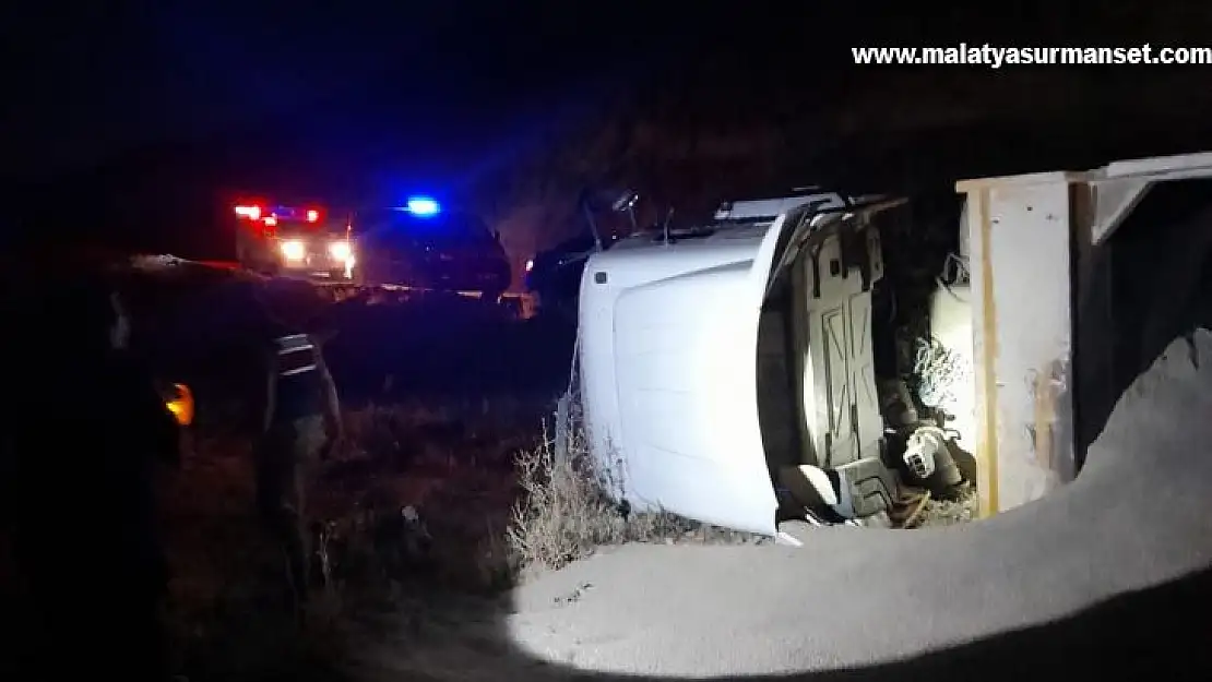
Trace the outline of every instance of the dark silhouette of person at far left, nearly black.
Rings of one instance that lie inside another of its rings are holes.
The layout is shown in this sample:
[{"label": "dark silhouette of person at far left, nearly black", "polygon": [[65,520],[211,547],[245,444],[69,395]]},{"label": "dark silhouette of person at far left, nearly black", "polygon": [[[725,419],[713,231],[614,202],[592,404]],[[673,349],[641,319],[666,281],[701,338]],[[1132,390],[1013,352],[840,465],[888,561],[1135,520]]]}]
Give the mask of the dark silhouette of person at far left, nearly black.
[{"label": "dark silhouette of person at far left, nearly black", "polygon": [[166,680],[153,474],[155,460],[179,462],[178,426],[128,350],[108,282],[73,277],[28,296],[6,349],[28,371],[12,374],[2,411],[29,597],[21,678]]}]

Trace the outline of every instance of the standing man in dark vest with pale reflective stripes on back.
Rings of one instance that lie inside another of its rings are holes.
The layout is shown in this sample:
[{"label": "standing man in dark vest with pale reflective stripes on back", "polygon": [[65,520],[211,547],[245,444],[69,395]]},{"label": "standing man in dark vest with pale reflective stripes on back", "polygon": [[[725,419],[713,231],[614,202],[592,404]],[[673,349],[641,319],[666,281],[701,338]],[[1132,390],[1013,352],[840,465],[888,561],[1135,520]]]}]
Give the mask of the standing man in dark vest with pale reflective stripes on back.
[{"label": "standing man in dark vest with pale reflective stripes on back", "polygon": [[341,405],[319,340],[274,315],[271,304],[264,309],[257,506],[285,555],[290,604],[302,620],[310,596],[307,487],[315,464],[343,439]]}]

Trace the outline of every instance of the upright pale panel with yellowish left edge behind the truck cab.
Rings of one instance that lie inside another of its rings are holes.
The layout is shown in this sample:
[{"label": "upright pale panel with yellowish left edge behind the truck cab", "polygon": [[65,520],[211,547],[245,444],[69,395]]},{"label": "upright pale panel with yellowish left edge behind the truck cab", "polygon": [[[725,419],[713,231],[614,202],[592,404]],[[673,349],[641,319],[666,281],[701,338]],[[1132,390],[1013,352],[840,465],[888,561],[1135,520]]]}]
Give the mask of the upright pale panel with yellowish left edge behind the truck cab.
[{"label": "upright pale panel with yellowish left edge behind the truck cab", "polygon": [[981,516],[1045,495],[1071,470],[1069,183],[968,195]]}]

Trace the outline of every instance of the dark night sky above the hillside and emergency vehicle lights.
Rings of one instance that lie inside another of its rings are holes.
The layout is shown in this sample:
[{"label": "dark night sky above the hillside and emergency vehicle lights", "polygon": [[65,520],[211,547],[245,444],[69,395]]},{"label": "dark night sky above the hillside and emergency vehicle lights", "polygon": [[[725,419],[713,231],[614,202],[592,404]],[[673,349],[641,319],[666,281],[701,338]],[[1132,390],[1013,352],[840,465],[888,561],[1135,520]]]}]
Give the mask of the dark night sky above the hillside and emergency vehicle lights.
[{"label": "dark night sky above the hillside and emergency vehicle lights", "polygon": [[[1212,45],[1208,2],[1094,13],[1065,2],[22,5],[0,11],[17,93],[0,173],[6,191],[38,189],[39,201],[82,193],[115,208],[159,188],[195,205],[250,187],[458,193],[621,102],[646,111],[657,138],[777,138],[782,157],[766,166],[847,179],[910,174],[907,159],[924,155],[947,174],[1212,148],[1212,67],[991,71],[850,57],[858,45],[961,40]],[[948,139],[962,142],[942,149]],[[943,168],[954,155],[961,170]],[[719,176],[685,164],[703,182]]]}]

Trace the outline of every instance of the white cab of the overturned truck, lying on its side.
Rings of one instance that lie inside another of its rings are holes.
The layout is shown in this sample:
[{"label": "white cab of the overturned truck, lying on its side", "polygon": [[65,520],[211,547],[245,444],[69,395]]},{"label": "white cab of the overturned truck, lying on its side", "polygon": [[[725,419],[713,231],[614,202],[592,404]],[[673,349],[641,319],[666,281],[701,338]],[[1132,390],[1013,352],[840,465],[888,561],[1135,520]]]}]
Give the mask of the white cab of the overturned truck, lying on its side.
[{"label": "white cab of the overturned truck, lying on its side", "polygon": [[[942,424],[884,417],[903,391],[877,386],[875,219],[902,204],[726,204],[711,224],[640,234],[589,262],[587,429],[633,506],[773,533],[891,511],[905,497],[897,459],[960,482]],[[890,428],[904,436],[896,453]]]}]

